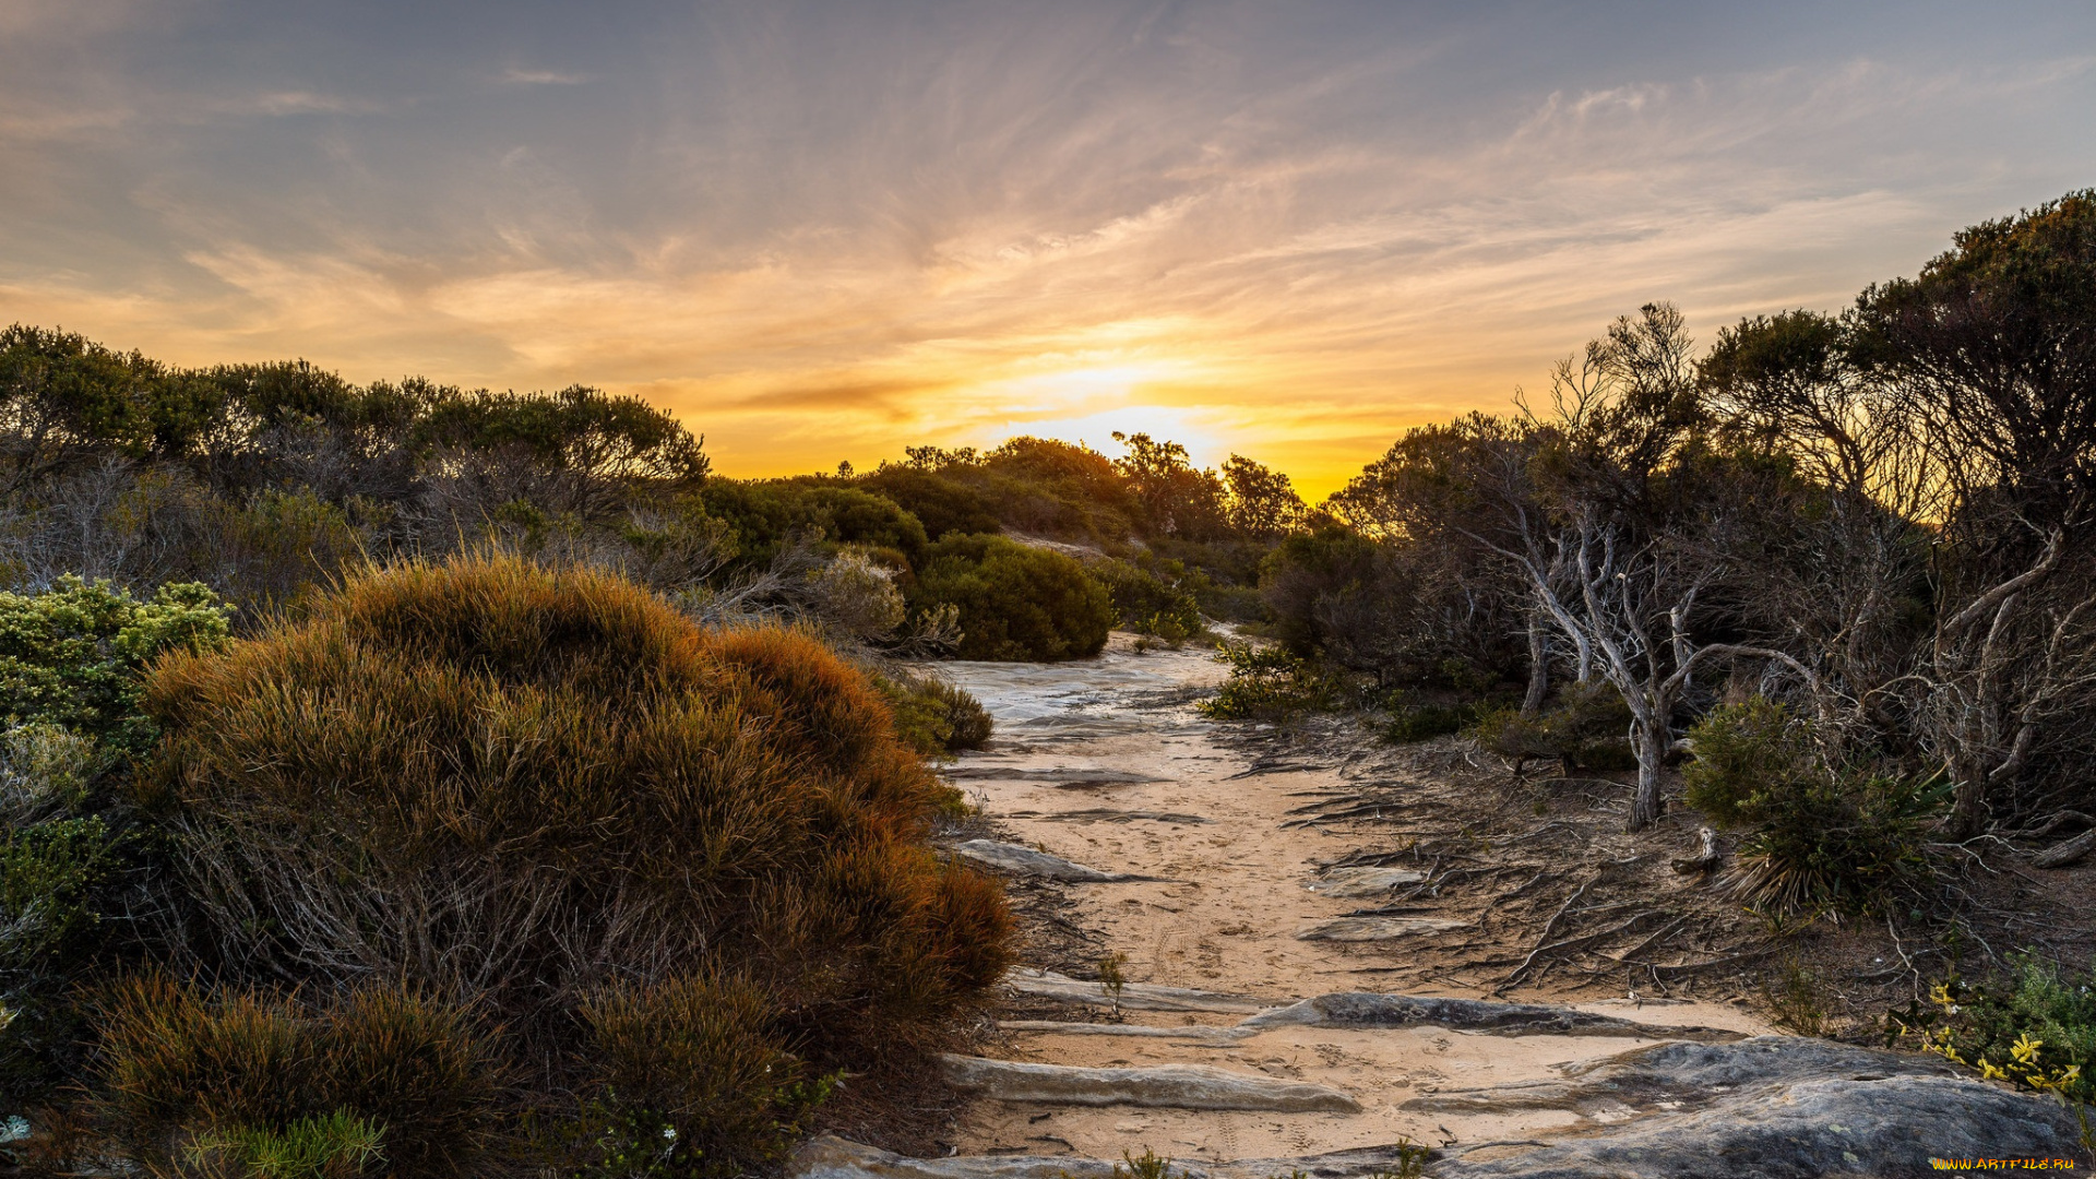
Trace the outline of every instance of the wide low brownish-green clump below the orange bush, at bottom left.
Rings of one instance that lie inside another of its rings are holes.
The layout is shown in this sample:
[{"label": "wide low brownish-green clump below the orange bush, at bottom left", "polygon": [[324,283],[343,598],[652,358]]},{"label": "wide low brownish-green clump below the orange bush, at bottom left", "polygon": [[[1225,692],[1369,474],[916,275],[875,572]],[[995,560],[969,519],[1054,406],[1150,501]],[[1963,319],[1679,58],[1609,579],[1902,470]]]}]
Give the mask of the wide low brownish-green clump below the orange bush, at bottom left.
[{"label": "wide low brownish-green clump below the orange bush, at bottom left", "polygon": [[107,1122],[153,1175],[354,1173],[342,1160],[377,1150],[388,1175],[449,1179],[486,1156],[505,1097],[493,1038],[413,990],[308,1009],[143,978],[99,1028]]}]

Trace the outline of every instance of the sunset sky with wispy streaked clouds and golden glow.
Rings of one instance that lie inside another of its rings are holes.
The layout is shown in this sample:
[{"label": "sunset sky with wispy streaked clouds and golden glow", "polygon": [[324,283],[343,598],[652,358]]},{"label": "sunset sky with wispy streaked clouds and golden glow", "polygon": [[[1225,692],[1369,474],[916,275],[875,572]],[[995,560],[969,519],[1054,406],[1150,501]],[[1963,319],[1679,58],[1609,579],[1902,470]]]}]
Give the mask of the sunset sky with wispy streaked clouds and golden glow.
[{"label": "sunset sky with wispy streaked clouds and golden glow", "polygon": [[1312,495],[2096,185],[2096,4],[0,0],[0,323]]}]

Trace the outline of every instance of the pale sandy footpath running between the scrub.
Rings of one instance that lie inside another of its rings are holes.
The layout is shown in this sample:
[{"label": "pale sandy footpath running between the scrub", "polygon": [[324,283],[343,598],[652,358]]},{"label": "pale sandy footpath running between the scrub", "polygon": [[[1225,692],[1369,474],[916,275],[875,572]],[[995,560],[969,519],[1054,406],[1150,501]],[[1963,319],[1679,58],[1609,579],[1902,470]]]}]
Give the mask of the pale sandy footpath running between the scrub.
[{"label": "pale sandy footpath running between the scrub", "polygon": [[[1364,837],[1285,827],[1289,812],[1333,793],[1356,793],[1341,757],[1262,764],[1222,741],[1188,701],[1220,680],[1199,650],[1134,655],[1115,636],[1094,661],[1065,665],[945,663],[998,720],[994,747],[952,768],[1017,841],[1147,883],[1069,885],[1073,919],[1109,950],[1128,955],[1132,982],[1251,994],[1272,1005],[1344,990],[1385,990],[1417,938],[1302,940],[1300,931],[1388,898],[1310,892],[1320,869]],[[1241,743],[1237,743],[1241,745]],[[1385,778],[1388,780],[1388,778]],[[1082,812],[1094,812],[1082,816]],[[1107,812],[1107,814],[1098,814]],[[1163,818],[1119,818],[1151,812]],[[1075,816],[1075,818],[1073,818]],[[1379,848],[1388,848],[1388,841]],[[1413,990],[1480,996],[1473,990]],[[1509,999],[1520,999],[1511,994]],[[1593,1011],[1647,1022],[1759,1034],[1750,1015],[1698,1003],[1601,1003]],[[1111,1013],[1071,1007],[1063,1020]],[[1132,1026],[1235,1024],[1228,1013],[1126,1011]],[[1564,1110],[1461,1114],[1406,1106],[1444,1093],[1557,1076],[1551,1066],[1606,1057],[1631,1036],[1492,1036],[1442,1028],[1272,1028],[1203,1043],[1159,1036],[1006,1032],[994,1055],[1067,1066],[1205,1064],[1241,1074],[1327,1085],[1358,1114],[1272,1114],[1079,1108],[977,1101],[960,1127],[962,1154],[1077,1154],[1119,1158],[1155,1150],[1182,1160],[1281,1158],[1360,1145],[1522,1139],[1578,1122]],[[1608,1120],[1601,1112],[1599,1120]]]}]

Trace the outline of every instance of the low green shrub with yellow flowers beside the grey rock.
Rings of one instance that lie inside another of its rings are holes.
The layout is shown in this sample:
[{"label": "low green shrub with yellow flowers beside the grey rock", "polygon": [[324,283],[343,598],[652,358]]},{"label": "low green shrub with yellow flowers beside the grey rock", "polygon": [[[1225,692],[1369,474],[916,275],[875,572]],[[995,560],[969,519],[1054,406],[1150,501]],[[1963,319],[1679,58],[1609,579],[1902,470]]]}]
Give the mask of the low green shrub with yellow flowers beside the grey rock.
[{"label": "low green shrub with yellow flowers beside the grey rock", "polygon": [[2096,969],[2062,978],[2037,955],[2010,955],[2004,978],[1939,982],[1926,1007],[1886,1015],[1886,1032],[1989,1078],[2096,1103]]}]

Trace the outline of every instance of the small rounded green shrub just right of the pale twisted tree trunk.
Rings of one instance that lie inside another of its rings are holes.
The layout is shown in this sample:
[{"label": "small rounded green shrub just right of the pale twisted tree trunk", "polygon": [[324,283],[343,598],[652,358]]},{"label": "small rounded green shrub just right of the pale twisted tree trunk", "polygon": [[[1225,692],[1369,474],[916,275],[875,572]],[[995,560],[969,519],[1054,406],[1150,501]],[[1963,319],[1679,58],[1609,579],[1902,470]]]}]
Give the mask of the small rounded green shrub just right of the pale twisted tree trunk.
[{"label": "small rounded green shrub just right of the pale twisted tree trunk", "polygon": [[1765,822],[1815,772],[1809,726],[1761,696],[1710,709],[1689,743],[1696,757],[1681,768],[1687,803],[1719,827]]}]

